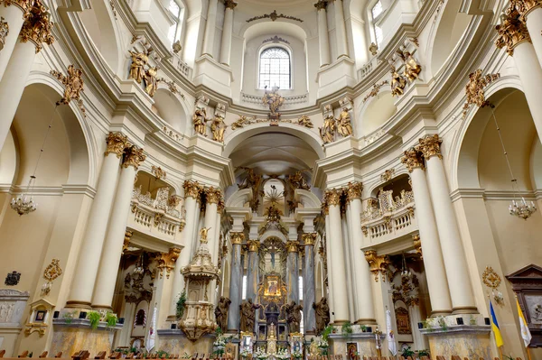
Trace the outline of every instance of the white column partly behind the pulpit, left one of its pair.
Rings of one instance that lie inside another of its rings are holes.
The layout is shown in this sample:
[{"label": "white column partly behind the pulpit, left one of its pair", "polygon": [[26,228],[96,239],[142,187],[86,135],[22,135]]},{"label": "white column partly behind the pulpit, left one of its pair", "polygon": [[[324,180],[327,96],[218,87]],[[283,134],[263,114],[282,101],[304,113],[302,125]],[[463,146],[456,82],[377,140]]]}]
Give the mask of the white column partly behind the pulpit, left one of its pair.
[{"label": "white column partly behind the pulpit, left one of its pair", "polygon": [[175,263],[175,270],[173,275],[172,286],[172,300],[170,302],[169,317],[168,320],[175,319],[175,313],[177,310],[177,300],[179,295],[184,289],[184,277],[181,274],[182,267],[190,263],[192,258],[192,237],[194,228],[196,227],[196,213],[200,212],[200,198],[201,187],[197,182],[184,181],[184,209],[186,210],[186,226],[182,230],[182,247],[181,254]]}]

